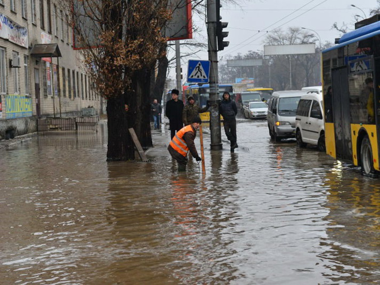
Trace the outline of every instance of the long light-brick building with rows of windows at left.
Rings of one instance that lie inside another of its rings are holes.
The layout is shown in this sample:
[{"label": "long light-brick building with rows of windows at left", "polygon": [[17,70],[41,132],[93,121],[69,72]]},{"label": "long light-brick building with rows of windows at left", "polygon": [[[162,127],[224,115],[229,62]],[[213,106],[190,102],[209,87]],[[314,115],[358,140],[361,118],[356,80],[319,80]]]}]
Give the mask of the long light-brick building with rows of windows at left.
[{"label": "long light-brick building with rows of windows at left", "polygon": [[[73,29],[59,2],[0,0],[0,139],[37,131],[37,118],[100,114],[101,98],[73,49]],[[56,44],[61,57],[35,56]]]}]

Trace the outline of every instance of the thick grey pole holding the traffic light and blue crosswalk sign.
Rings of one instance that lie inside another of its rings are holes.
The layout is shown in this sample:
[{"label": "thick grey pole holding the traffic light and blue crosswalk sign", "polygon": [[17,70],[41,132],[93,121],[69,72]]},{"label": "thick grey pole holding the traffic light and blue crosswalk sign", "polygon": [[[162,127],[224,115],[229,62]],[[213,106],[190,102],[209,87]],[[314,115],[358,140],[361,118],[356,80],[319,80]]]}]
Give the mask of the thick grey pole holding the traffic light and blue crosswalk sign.
[{"label": "thick grey pole holding the traffic light and blue crosswalk sign", "polygon": [[216,37],[216,0],[207,0],[207,35],[209,44],[209,61],[210,61],[210,131],[211,131],[211,150],[222,149],[222,135],[220,131],[220,114],[219,114],[219,84],[218,84],[218,47]]}]

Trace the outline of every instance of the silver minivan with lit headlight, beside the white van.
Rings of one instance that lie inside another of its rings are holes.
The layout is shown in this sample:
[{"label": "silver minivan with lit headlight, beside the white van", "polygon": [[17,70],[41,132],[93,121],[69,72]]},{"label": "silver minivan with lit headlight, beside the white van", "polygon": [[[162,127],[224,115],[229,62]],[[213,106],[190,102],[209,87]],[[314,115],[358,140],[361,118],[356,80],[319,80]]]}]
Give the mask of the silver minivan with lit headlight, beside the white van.
[{"label": "silver minivan with lit headlight, beside the white van", "polygon": [[268,130],[271,139],[294,138],[298,102],[305,92],[287,90],[273,92],[268,102]]}]

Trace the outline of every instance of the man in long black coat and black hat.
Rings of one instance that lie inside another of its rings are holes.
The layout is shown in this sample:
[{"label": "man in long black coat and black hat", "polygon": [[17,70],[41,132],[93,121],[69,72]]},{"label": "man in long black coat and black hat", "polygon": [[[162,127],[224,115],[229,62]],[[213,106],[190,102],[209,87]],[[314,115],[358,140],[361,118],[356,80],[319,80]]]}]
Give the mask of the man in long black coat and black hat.
[{"label": "man in long black coat and black hat", "polygon": [[177,89],[171,90],[171,100],[166,102],[165,116],[169,119],[170,137],[176,135],[176,131],[182,129],[182,111],[184,109],[184,102],[178,99],[179,91]]}]

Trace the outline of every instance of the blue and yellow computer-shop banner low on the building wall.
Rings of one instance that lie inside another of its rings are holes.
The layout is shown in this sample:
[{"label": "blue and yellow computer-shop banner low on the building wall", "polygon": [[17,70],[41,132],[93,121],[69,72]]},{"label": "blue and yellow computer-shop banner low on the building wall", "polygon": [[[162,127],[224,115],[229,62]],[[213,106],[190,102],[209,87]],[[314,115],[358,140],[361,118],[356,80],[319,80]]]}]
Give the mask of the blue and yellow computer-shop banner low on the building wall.
[{"label": "blue and yellow computer-shop banner low on the building wall", "polygon": [[5,95],[6,119],[32,116],[32,97],[27,95]]}]

